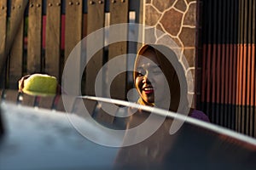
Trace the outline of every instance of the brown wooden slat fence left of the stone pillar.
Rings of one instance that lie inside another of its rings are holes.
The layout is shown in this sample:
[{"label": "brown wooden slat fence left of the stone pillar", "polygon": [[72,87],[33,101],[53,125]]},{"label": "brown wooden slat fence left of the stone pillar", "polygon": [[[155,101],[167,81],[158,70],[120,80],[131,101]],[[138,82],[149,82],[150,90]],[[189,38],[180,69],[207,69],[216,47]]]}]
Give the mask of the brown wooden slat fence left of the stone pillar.
[{"label": "brown wooden slat fence left of the stone pillar", "polygon": [[[35,72],[55,76],[61,82],[65,62],[83,37],[104,26],[139,23],[142,3],[142,0],[0,0],[0,69],[4,72],[1,87],[15,89],[20,77]],[[128,36],[128,32],[124,34]],[[104,49],[85,68],[81,82],[86,87],[82,88],[84,94],[94,94],[93,80],[105,62],[128,50],[135,51],[137,46],[119,42]],[[126,61],[121,65],[126,67]],[[116,78],[115,98],[125,99],[127,84],[126,74]]]}]

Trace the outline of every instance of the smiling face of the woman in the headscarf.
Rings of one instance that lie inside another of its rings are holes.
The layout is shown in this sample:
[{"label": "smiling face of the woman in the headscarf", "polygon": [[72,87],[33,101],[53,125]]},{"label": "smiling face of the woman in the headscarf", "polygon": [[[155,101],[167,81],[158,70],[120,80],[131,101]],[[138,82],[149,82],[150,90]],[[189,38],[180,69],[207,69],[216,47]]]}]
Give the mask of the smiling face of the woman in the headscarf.
[{"label": "smiling face of the woman in the headscarf", "polygon": [[[144,56],[144,57],[143,57]],[[137,59],[135,85],[141,98],[148,104],[157,103],[166,95],[166,77],[160,70],[153,50],[148,49]]]}]

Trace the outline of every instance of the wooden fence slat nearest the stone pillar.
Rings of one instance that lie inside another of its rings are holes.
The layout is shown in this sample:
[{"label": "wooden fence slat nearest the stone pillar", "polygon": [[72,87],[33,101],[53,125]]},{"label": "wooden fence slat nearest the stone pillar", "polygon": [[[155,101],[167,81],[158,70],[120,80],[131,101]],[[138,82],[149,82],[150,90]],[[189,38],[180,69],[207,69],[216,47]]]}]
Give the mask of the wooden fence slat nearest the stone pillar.
[{"label": "wooden fence slat nearest the stone pillar", "polygon": [[[110,3],[110,25],[128,23],[129,20],[129,0],[125,1],[115,1],[115,3]],[[122,14],[120,14],[122,11]],[[122,30],[109,30],[109,41],[111,37],[119,35],[119,37],[128,36],[128,27],[123,28]],[[113,59],[116,56],[127,53],[127,42],[116,42],[109,45],[108,60]],[[120,68],[126,68],[126,60],[124,59],[120,63],[116,63]],[[111,95],[114,99],[126,99],[126,73],[119,74],[115,77],[115,80],[112,82]]]}]

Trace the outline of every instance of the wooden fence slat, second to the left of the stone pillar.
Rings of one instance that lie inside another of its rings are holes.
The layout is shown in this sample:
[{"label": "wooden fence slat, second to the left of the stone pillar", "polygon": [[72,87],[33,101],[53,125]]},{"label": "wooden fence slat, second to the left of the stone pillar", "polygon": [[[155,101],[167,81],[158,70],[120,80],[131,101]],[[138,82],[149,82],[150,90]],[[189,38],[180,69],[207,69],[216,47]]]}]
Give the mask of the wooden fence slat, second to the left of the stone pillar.
[{"label": "wooden fence slat, second to the left of the stone pillar", "polygon": [[[93,33],[104,27],[105,14],[104,14],[104,2],[91,3],[88,1],[88,14],[87,14],[87,32]],[[103,30],[102,30],[103,31]],[[101,32],[103,35],[103,32]],[[100,47],[104,46],[104,37],[98,37],[96,40]],[[87,42],[90,43],[90,42]],[[90,50],[90,49],[89,49]],[[95,81],[98,71],[103,65],[103,48],[98,50],[96,54],[92,56],[88,64],[86,65],[86,81],[85,81],[85,94],[95,95]],[[102,79],[102,77],[101,77]],[[102,94],[99,92],[99,94]]]}]

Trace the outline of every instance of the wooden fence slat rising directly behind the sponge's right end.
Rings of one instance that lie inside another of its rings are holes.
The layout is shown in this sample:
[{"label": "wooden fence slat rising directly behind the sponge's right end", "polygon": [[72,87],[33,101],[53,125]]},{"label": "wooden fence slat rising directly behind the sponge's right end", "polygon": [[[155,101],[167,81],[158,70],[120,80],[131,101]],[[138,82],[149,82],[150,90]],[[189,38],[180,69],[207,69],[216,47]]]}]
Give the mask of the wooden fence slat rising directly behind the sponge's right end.
[{"label": "wooden fence slat rising directly behind the sponge's right end", "polygon": [[60,81],[61,0],[47,1],[44,71]]}]

